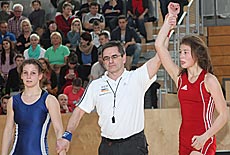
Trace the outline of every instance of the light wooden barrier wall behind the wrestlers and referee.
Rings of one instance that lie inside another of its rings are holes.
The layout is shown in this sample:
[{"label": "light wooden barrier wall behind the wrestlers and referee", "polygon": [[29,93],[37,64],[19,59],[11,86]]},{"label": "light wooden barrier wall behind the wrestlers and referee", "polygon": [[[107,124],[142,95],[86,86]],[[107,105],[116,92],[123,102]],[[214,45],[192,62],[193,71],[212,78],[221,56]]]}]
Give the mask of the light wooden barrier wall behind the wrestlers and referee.
[{"label": "light wooden barrier wall behind the wrestlers and referee", "polygon": [[[69,116],[70,114],[62,115],[64,126],[66,126]],[[100,129],[97,121],[96,113],[86,114],[82,118],[79,127],[73,133],[68,155],[97,155],[100,143]],[[180,109],[178,108],[145,110],[145,133],[149,143],[149,155],[178,155],[180,122]],[[0,116],[0,124],[0,138],[2,139],[5,116]],[[218,150],[230,150],[230,120],[216,137]],[[48,135],[48,143],[50,154],[56,154],[56,138],[52,127]]]}]

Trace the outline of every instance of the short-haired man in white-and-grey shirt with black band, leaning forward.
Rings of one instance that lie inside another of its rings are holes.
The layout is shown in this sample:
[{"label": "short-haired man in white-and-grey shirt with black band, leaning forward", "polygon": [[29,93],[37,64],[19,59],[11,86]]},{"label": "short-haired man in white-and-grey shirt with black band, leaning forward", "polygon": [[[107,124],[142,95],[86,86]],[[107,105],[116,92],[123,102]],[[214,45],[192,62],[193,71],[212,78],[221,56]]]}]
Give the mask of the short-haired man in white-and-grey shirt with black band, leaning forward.
[{"label": "short-haired man in white-and-grey shirt with black band, leaning forward", "polygon": [[93,22],[98,20],[100,22],[101,29],[105,29],[105,17],[98,13],[99,4],[97,2],[90,3],[89,13],[85,14],[82,18],[82,25],[86,31],[93,31]]}]

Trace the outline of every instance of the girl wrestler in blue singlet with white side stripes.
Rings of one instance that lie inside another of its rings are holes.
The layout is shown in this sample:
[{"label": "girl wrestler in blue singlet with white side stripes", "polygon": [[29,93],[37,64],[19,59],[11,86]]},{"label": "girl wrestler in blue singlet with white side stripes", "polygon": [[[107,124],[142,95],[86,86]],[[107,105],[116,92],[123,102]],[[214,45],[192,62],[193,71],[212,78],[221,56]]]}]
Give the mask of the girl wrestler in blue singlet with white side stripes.
[{"label": "girl wrestler in blue singlet with white side stripes", "polygon": [[[52,120],[56,138],[63,133],[57,99],[42,90],[42,66],[38,60],[25,60],[20,68],[24,91],[11,97],[7,105],[6,126],[2,139],[2,155],[48,155],[47,133]],[[61,152],[65,155],[65,152]]]}]

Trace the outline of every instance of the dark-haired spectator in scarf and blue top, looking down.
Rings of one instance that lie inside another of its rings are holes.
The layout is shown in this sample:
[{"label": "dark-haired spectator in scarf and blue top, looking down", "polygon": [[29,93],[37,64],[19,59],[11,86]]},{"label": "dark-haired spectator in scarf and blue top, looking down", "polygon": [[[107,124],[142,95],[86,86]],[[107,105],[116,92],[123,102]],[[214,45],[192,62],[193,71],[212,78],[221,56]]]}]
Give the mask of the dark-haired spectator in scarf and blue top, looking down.
[{"label": "dark-haired spectator in scarf and blue top, looking down", "polygon": [[84,71],[81,72],[81,78],[84,86],[87,85],[89,81],[88,76],[92,65],[98,60],[97,52],[97,47],[93,45],[90,33],[83,32],[81,35],[80,45],[76,49],[76,53],[78,56],[78,62],[82,65]]}]

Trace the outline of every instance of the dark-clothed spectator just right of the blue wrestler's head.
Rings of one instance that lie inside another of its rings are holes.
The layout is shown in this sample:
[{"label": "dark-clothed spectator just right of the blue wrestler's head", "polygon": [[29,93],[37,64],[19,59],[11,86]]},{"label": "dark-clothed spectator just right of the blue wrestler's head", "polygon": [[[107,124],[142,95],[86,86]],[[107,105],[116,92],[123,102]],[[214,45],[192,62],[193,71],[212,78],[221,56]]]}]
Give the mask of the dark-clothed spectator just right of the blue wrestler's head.
[{"label": "dark-clothed spectator just right of the blue wrestler's head", "polygon": [[39,62],[42,64],[43,68],[41,88],[47,90],[50,94],[56,96],[58,92],[57,75],[51,68],[47,59],[39,58]]}]

